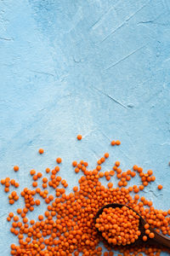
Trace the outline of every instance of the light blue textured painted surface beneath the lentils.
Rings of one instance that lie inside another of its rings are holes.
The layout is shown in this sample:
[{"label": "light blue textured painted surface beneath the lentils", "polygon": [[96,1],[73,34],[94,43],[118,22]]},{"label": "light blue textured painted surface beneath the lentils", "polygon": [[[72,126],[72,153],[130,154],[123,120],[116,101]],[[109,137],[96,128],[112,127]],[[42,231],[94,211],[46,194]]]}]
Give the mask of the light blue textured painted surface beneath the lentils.
[{"label": "light blue textured painted surface beneath the lentils", "polygon": [[[71,161],[94,166],[109,151],[105,168],[153,169],[147,198],[170,208],[169,38],[168,0],[1,1],[1,177],[19,179],[20,191],[31,168],[44,172],[61,156],[71,189]],[[115,138],[121,148],[111,148]],[[0,255],[9,255],[3,188],[0,198]]]}]

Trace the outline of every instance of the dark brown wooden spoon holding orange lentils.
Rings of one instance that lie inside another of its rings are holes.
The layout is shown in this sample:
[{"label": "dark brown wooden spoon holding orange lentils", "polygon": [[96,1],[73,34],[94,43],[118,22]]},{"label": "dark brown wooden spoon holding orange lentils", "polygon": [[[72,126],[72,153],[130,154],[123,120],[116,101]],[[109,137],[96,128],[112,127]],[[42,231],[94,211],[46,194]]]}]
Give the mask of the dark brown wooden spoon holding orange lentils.
[{"label": "dark brown wooden spoon holding orange lentils", "polygon": [[[105,208],[109,208],[109,207],[122,208],[122,207],[128,207],[128,206],[127,205],[122,205],[122,204],[108,204],[108,205],[105,205],[104,207],[101,207],[99,209],[99,212],[97,212],[97,214],[94,218],[94,223],[95,224],[96,224],[96,219],[99,218],[99,215],[103,212],[103,210]],[[133,210],[133,208],[131,208],[131,207],[128,207],[128,208]],[[136,212],[136,211],[133,210],[133,212]],[[136,212],[136,213],[139,215],[138,212]],[[156,230],[153,230],[151,228],[150,228],[150,231],[155,234],[155,237],[154,238],[148,237],[147,241],[143,241],[142,237],[145,236],[144,224],[146,224],[146,222],[145,222],[144,218],[142,218],[140,215],[139,215],[139,217],[140,217],[139,218],[139,230],[141,232],[141,235],[139,236],[139,238],[135,242],[133,242],[133,244],[131,244],[131,246],[139,247],[139,246],[144,246],[144,244],[145,244],[147,246],[153,246],[153,247],[167,247],[167,248],[170,248],[170,238],[167,237],[167,236],[163,236],[163,235],[159,234],[158,232],[156,232]],[[96,229],[96,230],[98,231],[99,235],[102,236],[102,232],[99,231],[98,229]],[[104,241],[106,241],[104,237],[103,237],[103,239],[104,239]],[[106,242],[108,243],[108,241],[106,241]]]}]

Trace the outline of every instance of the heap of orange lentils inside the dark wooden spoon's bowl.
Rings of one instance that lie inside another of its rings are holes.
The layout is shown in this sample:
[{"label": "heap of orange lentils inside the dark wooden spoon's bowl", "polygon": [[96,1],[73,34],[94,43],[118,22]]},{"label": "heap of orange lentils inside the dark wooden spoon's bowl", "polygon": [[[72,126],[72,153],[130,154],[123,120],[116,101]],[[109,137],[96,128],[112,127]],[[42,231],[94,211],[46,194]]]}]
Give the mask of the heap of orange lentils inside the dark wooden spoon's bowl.
[{"label": "heap of orange lentils inside the dark wooden spoon's bowl", "polygon": [[95,227],[113,245],[128,245],[141,235],[139,215],[128,207],[104,208],[96,219]]}]

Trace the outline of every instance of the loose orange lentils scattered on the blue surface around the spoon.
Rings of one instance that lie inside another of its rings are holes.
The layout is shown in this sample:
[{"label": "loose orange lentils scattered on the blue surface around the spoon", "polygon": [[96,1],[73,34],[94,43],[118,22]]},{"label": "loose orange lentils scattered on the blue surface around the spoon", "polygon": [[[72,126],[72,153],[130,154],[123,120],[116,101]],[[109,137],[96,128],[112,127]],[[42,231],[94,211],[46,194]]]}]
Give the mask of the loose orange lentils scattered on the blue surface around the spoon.
[{"label": "loose orange lentils scattered on the blue surface around the spoon", "polygon": [[[77,136],[77,140],[81,139],[82,136]],[[111,142],[111,146],[119,146],[120,144],[120,141]],[[44,150],[40,148],[39,154],[43,153]],[[72,167],[75,173],[82,172],[82,177],[78,180],[79,185],[73,187],[72,192],[69,194],[66,194],[68,183],[59,176],[61,158],[56,159],[57,165],[54,166],[53,170],[46,169],[47,177],[43,177],[42,172],[31,170],[31,187],[23,189],[20,193],[20,198],[19,193],[17,194],[16,191],[11,191],[11,194],[8,195],[8,201],[11,205],[14,204],[14,201],[22,200],[22,198],[25,203],[24,207],[18,208],[16,212],[8,213],[7,220],[11,222],[10,231],[18,239],[18,242],[11,244],[11,255],[112,256],[114,255],[113,251],[117,251],[116,255],[118,256],[141,256],[143,253],[149,256],[159,256],[162,251],[167,251],[166,248],[147,247],[146,243],[142,247],[119,247],[121,244],[120,238],[116,236],[111,237],[111,239],[116,239],[113,242],[115,246],[111,247],[105,241],[106,251],[99,246],[99,242],[103,241],[103,238],[99,236],[96,230],[94,217],[101,207],[111,203],[127,205],[145,219],[147,224],[144,226],[144,242],[147,241],[148,237],[151,238],[152,236],[150,235],[150,228],[163,235],[170,236],[170,210],[167,212],[157,210],[152,206],[152,201],[148,201],[144,196],[139,195],[139,191],[155,181],[156,177],[153,176],[153,172],[151,170],[144,172],[142,167],[136,165],[133,166],[133,170],[122,172],[121,163],[118,160],[114,166],[111,166],[111,171],[104,172],[102,171],[102,165],[108,158],[109,154],[105,153],[97,161],[94,170],[88,169],[88,162],[83,160],[77,162],[74,160]],[[19,171],[19,167],[14,167],[14,171]],[[128,186],[128,182],[136,175],[140,177],[140,185]],[[113,177],[116,177],[114,179],[114,186],[111,181]],[[107,186],[102,184],[102,178],[106,179]],[[42,181],[41,186],[38,186],[38,180]],[[4,191],[6,193],[9,192],[10,186],[19,187],[19,183],[16,183],[14,179],[9,177],[2,179],[1,183],[5,187]],[[49,195],[49,189],[50,191],[54,190],[54,193],[51,193],[54,195]],[[158,189],[162,189],[162,186],[159,185]],[[38,197],[38,199],[35,197]],[[38,218],[30,219],[29,212],[35,211],[36,207],[41,207],[42,204],[47,204],[46,211],[42,212]],[[113,209],[108,211],[113,215],[116,213]],[[127,207],[124,208],[124,211],[127,211]],[[104,212],[104,215],[106,212]],[[124,225],[127,222],[128,226],[126,214],[124,217],[121,211],[118,214],[122,218],[122,224]],[[139,220],[133,215],[133,211],[131,215],[134,218],[134,231],[131,232],[132,236],[127,237],[128,232],[127,234],[123,232],[123,234],[119,235],[119,237],[122,236],[122,245],[135,241],[139,236]],[[113,227],[110,230],[109,226],[109,232],[107,233],[108,222],[111,218],[107,218],[107,223],[105,224],[105,237],[108,241],[110,236],[114,235],[117,227],[121,225],[121,223],[117,223],[113,218]],[[99,227],[102,228],[102,225],[99,225],[97,228]],[[125,239],[125,236],[127,239]],[[102,253],[103,250],[105,251],[104,253]]]}]

